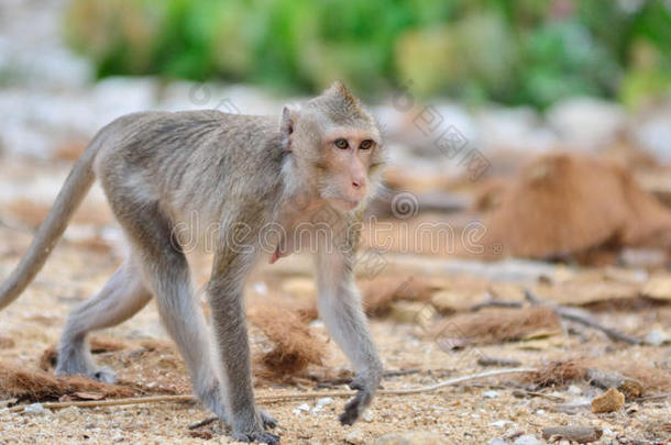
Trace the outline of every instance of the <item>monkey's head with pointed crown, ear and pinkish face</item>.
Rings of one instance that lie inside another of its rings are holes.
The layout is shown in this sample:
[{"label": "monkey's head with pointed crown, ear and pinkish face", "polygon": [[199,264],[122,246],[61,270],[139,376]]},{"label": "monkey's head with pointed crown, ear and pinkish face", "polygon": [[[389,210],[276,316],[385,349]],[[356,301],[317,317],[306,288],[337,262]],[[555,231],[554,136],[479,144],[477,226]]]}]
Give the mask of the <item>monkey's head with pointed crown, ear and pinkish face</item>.
[{"label": "monkey's head with pointed crown, ear and pinkish face", "polygon": [[382,136],[373,116],[340,81],[301,108],[285,107],[282,143],[318,198],[350,211],[381,180]]}]

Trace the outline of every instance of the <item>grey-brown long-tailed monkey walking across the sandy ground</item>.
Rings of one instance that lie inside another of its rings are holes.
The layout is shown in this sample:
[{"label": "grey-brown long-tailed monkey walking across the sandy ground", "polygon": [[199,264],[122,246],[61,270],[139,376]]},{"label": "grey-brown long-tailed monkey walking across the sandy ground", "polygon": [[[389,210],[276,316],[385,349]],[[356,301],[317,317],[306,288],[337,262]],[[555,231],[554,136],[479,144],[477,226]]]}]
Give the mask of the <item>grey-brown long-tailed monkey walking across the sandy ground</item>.
[{"label": "grey-brown long-tailed monkey walking across the sandy ground", "polygon": [[[306,222],[343,227],[321,237],[311,254],[320,316],[355,370],[350,387],[356,392],[339,416],[352,424],[373,400],[383,370],[354,266],[363,211],[385,164],[375,119],[340,81],[302,104],[283,107],[279,116],[217,110],[123,115],[102,127],[75,164],[0,287],[0,310],[41,270],[98,179],[130,253],[100,292],[67,316],[56,372],[114,382],[111,369],[94,363],[87,334],[130,319],[155,298],[202,404],[235,440],[276,444],[279,436],[268,431],[276,421],[254,401],[245,279],[260,260],[272,264],[304,249],[290,233]],[[175,230],[189,224],[190,212],[217,224],[206,286],[210,329]]]}]

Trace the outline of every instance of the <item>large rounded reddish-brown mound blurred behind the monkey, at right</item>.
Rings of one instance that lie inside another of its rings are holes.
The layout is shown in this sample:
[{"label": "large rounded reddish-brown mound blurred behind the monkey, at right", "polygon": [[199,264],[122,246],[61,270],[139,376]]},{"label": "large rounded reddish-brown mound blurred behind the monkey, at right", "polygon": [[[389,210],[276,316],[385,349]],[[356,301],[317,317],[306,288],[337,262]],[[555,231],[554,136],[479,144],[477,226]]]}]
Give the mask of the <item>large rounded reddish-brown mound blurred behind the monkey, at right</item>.
[{"label": "large rounded reddish-brown mound blurred behind the monkey, at right", "polygon": [[575,154],[527,165],[485,225],[485,255],[497,258],[548,258],[608,243],[671,247],[671,211],[623,167]]}]

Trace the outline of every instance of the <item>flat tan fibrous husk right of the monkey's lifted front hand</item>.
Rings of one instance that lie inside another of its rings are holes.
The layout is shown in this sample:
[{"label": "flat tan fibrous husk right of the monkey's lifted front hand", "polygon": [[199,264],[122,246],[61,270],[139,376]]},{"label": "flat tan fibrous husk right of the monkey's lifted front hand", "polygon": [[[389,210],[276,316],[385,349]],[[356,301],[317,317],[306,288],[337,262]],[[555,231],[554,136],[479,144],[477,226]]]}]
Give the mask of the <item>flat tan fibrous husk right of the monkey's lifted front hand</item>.
[{"label": "flat tan fibrous husk right of the monkey's lifted front hand", "polygon": [[455,344],[503,343],[560,332],[559,316],[549,308],[483,309],[436,323],[429,335]]}]

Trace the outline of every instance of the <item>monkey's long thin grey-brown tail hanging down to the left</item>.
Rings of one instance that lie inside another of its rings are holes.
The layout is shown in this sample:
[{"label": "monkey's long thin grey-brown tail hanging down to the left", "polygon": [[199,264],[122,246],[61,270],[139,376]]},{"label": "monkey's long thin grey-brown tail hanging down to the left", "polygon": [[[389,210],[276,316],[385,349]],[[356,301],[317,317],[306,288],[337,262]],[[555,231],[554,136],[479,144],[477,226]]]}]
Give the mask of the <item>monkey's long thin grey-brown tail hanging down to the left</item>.
[{"label": "monkey's long thin grey-brown tail hanging down to the left", "polygon": [[46,258],[65,232],[67,224],[79,207],[96,175],[94,160],[102,144],[103,131],[99,132],[88,145],[81,157],[75,164],[46,219],[40,225],[33,243],[19,266],[0,286],[0,310],[14,301],[42,269]]}]

